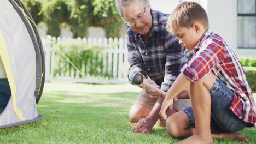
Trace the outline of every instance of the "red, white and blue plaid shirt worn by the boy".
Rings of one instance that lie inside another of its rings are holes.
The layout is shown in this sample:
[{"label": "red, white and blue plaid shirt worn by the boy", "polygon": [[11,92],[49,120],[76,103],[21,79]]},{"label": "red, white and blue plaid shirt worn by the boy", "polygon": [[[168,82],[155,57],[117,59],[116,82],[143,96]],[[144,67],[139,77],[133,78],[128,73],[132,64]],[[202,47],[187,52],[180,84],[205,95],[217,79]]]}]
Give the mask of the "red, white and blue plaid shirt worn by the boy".
[{"label": "red, white and blue plaid shirt worn by the boy", "polygon": [[196,83],[211,70],[234,93],[229,109],[247,127],[256,127],[256,107],[245,71],[235,53],[217,34],[208,29],[194,48],[195,55],[181,69],[191,82]]}]

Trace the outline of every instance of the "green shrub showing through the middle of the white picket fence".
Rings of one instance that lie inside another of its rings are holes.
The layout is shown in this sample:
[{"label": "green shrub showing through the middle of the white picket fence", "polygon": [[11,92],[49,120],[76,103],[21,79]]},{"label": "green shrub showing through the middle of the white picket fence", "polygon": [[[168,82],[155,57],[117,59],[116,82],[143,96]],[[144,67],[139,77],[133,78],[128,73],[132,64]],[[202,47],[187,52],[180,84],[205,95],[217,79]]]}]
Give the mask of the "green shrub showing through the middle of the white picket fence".
[{"label": "green shrub showing through the middle of the white picket fence", "polygon": [[[56,44],[55,55],[59,55],[59,58],[55,59],[55,62],[59,63],[59,67],[54,70],[54,76],[56,74],[71,75],[71,69],[73,65],[63,58],[62,53],[82,72],[84,67],[84,74],[90,76],[103,76],[103,45],[84,45],[83,43],[60,43]],[[60,51],[62,53],[60,53]],[[76,70],[75,70],[76,71]],[[79,75],[82,78],[82,75]]]}]

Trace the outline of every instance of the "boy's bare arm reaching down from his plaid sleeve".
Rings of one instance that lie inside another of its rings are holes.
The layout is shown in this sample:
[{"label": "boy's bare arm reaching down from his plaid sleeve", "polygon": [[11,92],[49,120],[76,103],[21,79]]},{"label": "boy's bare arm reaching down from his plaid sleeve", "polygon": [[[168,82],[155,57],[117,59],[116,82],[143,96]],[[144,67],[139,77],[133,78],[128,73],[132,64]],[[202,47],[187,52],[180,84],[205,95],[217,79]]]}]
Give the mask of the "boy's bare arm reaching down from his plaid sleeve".
[{"label": "boy's bare arm reaching down from his plaid sleeve", "polygon": [[169,106],[170,106],[170,109],[172,110],[172,104],[173,104],[174,97],[176,97],[176,95],[181,93],[186,87],[189,87],[190,83],[191,83],[191,81],[189,79],[187,79],[187,77],[185,77],[182,73],[179,74],[179,76],[174,81],[171,88],[166,93],[164,102],[162,103],[161,110],[160,110],[159,114],[163,119],[167,118],[166,110]]}]

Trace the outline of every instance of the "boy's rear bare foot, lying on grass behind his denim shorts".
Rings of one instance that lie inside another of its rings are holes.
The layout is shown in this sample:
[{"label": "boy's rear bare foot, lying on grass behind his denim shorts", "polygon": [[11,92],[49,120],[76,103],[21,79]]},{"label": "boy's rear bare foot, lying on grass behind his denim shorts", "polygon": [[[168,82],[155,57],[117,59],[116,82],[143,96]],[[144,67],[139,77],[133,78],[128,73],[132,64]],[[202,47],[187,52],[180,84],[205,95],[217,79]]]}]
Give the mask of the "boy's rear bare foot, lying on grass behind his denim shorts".
[{"label": "boy's rear bare foot, lying on grass behind his denim shorts", "polygon": [[216,139],[232,139],[249,142],[245,136],[239,133],[222,133],[222,134],[212,134],[212,137]]}]

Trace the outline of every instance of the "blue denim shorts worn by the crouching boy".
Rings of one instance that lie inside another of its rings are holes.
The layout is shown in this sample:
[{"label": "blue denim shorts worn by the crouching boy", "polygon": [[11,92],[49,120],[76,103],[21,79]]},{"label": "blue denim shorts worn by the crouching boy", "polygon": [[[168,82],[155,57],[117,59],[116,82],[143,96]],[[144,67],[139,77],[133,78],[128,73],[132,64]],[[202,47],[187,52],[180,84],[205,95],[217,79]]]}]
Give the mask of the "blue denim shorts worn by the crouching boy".
[{"label": "blue denim shorts worn by the crouching boy", "polygon": [[[231,110],[230,103],[234,96],[225,83],[218,77],[210,89],[211,104],[211,133],[236,133],[243,130],[247,123],[239,119]],[[192,107],[182,110],[189,119],[189,127],[195,128],[195,118]]]}]

